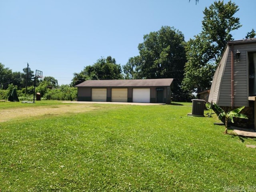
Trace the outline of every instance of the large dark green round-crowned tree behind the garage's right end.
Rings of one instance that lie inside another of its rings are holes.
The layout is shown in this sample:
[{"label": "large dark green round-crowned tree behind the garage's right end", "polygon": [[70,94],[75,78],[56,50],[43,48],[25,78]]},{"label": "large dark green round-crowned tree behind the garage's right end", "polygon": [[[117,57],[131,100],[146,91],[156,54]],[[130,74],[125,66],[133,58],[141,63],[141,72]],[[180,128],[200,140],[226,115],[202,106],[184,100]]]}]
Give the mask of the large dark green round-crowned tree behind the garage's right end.
[{"label": "large dark green round-crowned tree behind the garage's right end", "polygon": [[170,26],[144,35],[138,45],[140,52],[140,78],[174,78],[173,96],[182,94],[181,81],[186,63],[184,35]]}]

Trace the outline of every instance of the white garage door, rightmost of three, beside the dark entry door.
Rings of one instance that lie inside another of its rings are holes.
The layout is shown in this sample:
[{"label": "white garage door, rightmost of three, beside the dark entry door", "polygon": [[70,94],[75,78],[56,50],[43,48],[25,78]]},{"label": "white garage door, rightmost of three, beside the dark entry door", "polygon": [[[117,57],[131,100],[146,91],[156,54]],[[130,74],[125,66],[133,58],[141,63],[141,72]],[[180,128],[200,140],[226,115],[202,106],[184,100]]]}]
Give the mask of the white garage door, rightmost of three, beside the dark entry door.
[{"label": "white garage door, rightmost of three, beside the dark entry door", "polygon": [[150,88],[132,89],[132,102],[150,103]]}]

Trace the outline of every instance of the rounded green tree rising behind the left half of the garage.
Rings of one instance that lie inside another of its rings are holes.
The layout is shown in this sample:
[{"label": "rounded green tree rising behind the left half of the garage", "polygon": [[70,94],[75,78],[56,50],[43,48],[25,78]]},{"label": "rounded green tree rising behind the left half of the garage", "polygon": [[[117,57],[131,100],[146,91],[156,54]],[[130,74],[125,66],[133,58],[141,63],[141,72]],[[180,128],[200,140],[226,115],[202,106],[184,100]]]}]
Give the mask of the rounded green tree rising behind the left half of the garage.
[{"label": "rounded green tree rising behind the left half of the garage", "polygon": [[116,64],[116,60],[111,56],[101,57],[92,66],[84,67],[80,73],[74,73],[71,85],[74,86],[84,80],[110,80],[122,79],[122,68]]}]

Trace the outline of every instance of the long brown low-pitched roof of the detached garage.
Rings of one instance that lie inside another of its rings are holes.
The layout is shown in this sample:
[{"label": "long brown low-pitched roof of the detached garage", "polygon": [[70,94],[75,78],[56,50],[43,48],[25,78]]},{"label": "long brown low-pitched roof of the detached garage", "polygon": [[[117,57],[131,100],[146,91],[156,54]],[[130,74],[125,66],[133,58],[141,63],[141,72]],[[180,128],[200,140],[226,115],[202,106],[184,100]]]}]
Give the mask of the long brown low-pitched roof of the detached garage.
[{"label": "long brown low-pitched roof of the detached garage", "polygon": [[149,87],[170,86],[172,78],[164,79],[129,79],[129,80],[87,80],[75,87]]}]

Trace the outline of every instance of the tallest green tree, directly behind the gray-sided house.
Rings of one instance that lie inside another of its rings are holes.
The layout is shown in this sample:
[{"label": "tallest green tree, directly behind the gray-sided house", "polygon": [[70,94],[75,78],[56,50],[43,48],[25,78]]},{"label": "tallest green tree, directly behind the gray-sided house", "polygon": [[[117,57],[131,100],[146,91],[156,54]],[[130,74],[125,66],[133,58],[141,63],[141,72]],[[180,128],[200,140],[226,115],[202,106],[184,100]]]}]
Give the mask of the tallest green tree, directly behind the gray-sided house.
[{"label": "tallest green tree, directly behind the gray-sided house", "polygon": [[239,10],[229,1],[214,2],[204,10],[202,32],[190,39],[186,46],[186,63],[182,88],[188,92],[201,92],[211,86],[216,65],[228,41],[234,40],[230,32],[240,28]]}]

